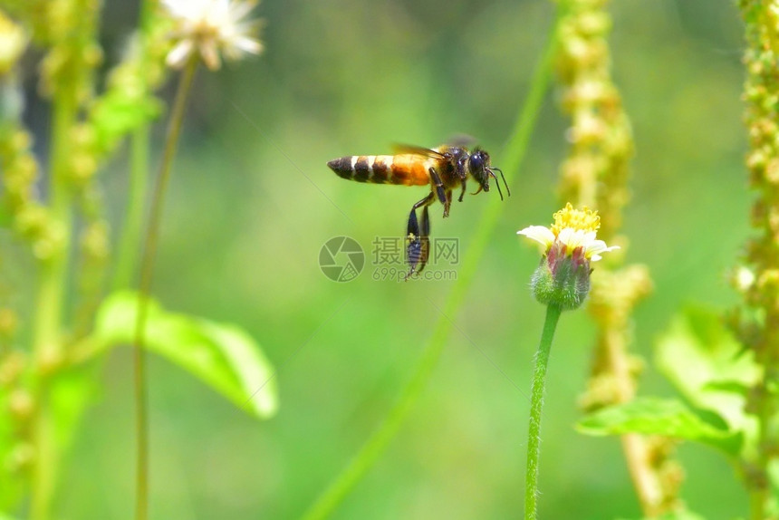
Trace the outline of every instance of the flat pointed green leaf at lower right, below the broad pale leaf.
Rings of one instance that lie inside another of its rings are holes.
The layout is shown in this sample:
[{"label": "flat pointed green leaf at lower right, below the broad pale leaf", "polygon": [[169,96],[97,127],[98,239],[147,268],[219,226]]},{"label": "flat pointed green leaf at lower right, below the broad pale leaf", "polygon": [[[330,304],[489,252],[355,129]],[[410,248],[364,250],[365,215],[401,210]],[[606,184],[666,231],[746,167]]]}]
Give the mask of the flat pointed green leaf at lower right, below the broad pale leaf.
[{"label": "flat pointed green leaf at lower right, below the broad pale leaf", "polygon": [[576,425],[587,435],[640,433],[669,438],[684,438],[736,455],[741,449],[741,434],[718,429],[698,417],[678,400],[640,398],[600,409]]}]

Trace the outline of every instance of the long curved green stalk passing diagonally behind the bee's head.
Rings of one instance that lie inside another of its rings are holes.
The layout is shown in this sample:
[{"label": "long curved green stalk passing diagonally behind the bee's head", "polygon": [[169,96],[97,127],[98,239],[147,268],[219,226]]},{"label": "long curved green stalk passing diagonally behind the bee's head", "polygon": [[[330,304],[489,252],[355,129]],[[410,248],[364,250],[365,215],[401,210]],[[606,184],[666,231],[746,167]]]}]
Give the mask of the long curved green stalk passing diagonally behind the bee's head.
[{"label": "long curved green stalk passing diagonally behind the bee's head", "polygon": [[[559,18],[557,19],[559,21]],[[515,129],[505,149],[504,166],[505,177],[508,182],[514,178],[517,170],[522,166],[527,152],[530,137],[533,134],[535,121],[543,106],[543,99],[550,82],[553,68],[553,57],[557,45],[558,23],[555,21],[553,30],[549,34],[548,41],[543,50],[543,56],[536,65],[530,91],[524,101],[524,106],[517,119]],[[451,316],[457,314],[465,295],[478,269],[479,260],[486,251],[489,237],[497,225],[498,217],[502,211],[500,201],[491,197],[490,202],[482,214],[476,234],[470,240],[463,265],[457,275],[457,282],[452,292],[447,297],[444,310],[438,317],[435,329],[430,336],[428,344],[418,362],[417,369],[409,383],[400,393],[398,401],[382,422],[380,427],[373,432],[360,451],[352,458],[341,474],[335,478],[311,508],[303,515],[305,520],[318,520],[326,518],[338,507],[343,499],[349,495],[351,489],[360,481],[368,469],[376,462],[389,441],[395,437],[400,425],[409,414],[409,410],[418,400],[418,396],[425,388],[430,374],[438,363],[438,358],[447,343],[452,332],[453,322]]]}]

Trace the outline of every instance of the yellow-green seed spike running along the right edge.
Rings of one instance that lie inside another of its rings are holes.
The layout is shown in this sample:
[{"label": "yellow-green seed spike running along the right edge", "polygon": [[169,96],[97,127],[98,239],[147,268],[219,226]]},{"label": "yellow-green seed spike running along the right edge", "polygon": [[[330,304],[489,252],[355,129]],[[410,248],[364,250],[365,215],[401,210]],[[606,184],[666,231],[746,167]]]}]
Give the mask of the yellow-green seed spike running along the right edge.
[{"label": "yellow-green seed spike running along the right edge", "polygon": [[[775,2],[740,0],[747,48],[744,55],[745,124],[749,150],[746,166],[757,197],[751,224],[757,230],[745,247],[745,265],[733,270],[732,284],[744,303],[728,316],[731,329],[764,369],[762,380],[747,393],[746,410],[761,428],[757,447],[742,461],[742,473],[753,501],[753,517],[768,518],[768,468],[779,458],[775,417],[779,401],[773,387],[779,374],[779,9]],[[774,518],[774,516],[770,516]]]}]

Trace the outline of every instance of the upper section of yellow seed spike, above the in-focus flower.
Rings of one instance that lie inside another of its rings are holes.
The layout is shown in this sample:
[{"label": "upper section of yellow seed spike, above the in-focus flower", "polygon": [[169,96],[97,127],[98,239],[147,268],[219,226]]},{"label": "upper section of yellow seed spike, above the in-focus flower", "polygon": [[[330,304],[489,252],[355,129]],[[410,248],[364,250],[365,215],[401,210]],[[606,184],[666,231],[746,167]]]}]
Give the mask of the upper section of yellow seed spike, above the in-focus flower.
[{"label": "upper section of yellow seed spike, above the in-focus flower", "polygon": [[[627,178],[633,155],[630,121],[611,82],[611,16],[605,0],[566,0],[558,75],[563,110],[571,114],[571,154],[563,162],[560,195],[574,206],[597,207],[599,236],[611,243],[629,200]],[[607,186],[608,189],[599,188]]]}]

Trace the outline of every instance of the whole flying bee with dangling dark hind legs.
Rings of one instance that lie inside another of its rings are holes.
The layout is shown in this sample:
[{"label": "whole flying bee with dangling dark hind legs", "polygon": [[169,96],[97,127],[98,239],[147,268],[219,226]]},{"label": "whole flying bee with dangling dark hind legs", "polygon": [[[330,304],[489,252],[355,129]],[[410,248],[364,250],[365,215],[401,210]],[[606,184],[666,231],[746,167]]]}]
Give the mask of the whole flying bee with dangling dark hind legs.
[{"label": "whole flying bee with dangling dark hind legs", "polygon": [[[414,273],[421,273],[430,253],[430,218],[428,206],[436,199],[444,205],[444,217],[449,216],[452,192],[460,188],[458,202],[466,194],[468,178],[473,178],[478,189],[472,194],[489,191],[490,178],[495,179],[500,199],[503,191],[495,172],[500,173],[506,194],[511,196],[501,169],[490,165],[489,154],[476,148],[468,151],[465,146],[443,145],[436,149],[399,145],[396,155],[353,155],[333,159],[327,163],[339,177],[371,184],[396,184],[400,186],[429,186],[430,193],[414,206],[409,213],[406,235],[406,259],[409,264],[409,279]],[[417,209],[422,208],[421,226]]]}]

